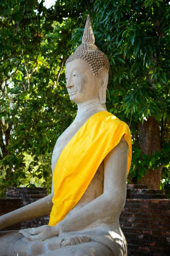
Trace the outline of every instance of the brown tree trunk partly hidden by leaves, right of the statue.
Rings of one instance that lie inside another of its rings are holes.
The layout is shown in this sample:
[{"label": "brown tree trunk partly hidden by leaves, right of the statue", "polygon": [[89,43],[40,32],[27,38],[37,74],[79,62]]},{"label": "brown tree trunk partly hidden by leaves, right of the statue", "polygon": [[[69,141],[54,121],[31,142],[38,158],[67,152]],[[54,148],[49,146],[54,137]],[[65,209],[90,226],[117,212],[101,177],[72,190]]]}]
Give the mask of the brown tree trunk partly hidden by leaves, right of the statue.
[{"label": "brown tree trunk partly hidden by leaves, right of the statue", "polygon": [[[159,123],[153,116],[150,116],[147,121],[144,120],[143,125],[139,123],[139,146],[142,154],[150,157],[153,152],[161,150]],[[149,169],[149,173],[137,183],[147,185],[150,189],[160,189],[161,170],[162,167],[157,170]]]}]

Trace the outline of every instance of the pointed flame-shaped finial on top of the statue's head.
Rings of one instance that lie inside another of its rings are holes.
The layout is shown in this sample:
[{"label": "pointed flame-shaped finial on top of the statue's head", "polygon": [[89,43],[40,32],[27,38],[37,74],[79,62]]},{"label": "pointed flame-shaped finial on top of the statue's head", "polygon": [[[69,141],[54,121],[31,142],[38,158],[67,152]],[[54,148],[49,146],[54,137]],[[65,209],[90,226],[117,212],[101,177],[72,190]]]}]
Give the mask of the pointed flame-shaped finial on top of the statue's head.
[{"label": "pointed flame-shaped finial on top of the statue's head", "polygon": [[91,28],[91,19],[90,19],[90,16],[88,15],[85,23],[85,31],[82,36],[82,44],[85,44],[85,43],[94,44],[94,42],[95,42],[95,39],[94,39],[93,30]]}]

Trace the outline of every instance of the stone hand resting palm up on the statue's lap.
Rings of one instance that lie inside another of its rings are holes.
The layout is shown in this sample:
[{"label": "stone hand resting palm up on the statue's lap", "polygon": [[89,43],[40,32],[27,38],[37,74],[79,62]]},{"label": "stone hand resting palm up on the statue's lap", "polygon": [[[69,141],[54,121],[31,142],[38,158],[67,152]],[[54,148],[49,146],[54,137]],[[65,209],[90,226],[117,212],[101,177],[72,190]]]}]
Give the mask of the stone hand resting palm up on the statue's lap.
[{"label": "stone hand resting palm up on the statue's lap", "polygon": [[59,230],[57,226],[44,225],[37,228],[28,228],[19,231],[20,234],[28,239],[29,241],[35,241],[40,239],[48,239],[53,236],[59,235]]}]

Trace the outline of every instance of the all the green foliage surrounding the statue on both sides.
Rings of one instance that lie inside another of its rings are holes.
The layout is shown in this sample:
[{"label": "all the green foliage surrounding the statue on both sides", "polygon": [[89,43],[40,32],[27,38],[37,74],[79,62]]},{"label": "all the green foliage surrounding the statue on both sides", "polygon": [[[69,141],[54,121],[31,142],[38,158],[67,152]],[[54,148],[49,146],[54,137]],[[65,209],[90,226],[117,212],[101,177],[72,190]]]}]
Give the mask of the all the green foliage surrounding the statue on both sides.
[{"label": "all the green foliage surrounding the statue on both sides", "polygon": [[[86,8],[88,6],[88,11]],[[65,60],[81,43],[90,14],[96,45],[108,56],[107,108],[130,125],[129,180],[149,168],[170,169],[170,5],[163,0],[57,0],[46,9],[0,2],[0,190],[51,187],[55,142],[76,115],[65,88]],[[160,123],[161,152],[139,149],[139,122]]]}]

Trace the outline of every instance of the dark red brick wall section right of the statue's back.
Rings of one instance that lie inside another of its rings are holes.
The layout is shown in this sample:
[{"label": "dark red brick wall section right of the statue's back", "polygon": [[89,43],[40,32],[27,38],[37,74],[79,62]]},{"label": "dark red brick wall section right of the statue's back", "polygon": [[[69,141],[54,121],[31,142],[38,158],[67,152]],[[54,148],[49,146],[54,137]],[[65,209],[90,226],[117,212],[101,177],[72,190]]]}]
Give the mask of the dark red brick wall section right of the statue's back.
[{"label": "dark red brick wall section right of the statue's back", "polygon": [[[130,197],[119,222],[130,256],[170,255],[170,200],[163,191],[127,185]],[[154,198],[154,199],[153,199]]]}]

